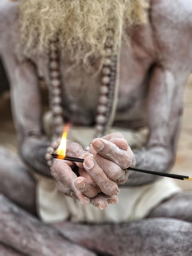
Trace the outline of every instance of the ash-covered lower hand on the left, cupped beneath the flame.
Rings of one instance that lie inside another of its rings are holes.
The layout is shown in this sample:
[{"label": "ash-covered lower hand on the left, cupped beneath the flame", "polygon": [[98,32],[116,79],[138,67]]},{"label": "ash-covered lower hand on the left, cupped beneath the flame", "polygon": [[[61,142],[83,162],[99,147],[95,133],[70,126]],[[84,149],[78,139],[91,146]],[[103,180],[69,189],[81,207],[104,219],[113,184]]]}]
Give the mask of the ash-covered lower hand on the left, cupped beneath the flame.
[{"label": "ash-covered lower hand on the left, cupped beneath the flame", "polygon": [[[67,155],[85,159],[93,156],[83,150],[80,144],[67,140]],[[76,171],[76,174],[74,173]],[[100,191],[99,187],[87,175],[83,163],[74,163],[66,160],[53,159],[51,175],[56,180],[59,191],[69,195],[82,204],[91,202]],[[78,176],[80,175],[80,176]],[[94,200],[92,201],[94,204]]]}]

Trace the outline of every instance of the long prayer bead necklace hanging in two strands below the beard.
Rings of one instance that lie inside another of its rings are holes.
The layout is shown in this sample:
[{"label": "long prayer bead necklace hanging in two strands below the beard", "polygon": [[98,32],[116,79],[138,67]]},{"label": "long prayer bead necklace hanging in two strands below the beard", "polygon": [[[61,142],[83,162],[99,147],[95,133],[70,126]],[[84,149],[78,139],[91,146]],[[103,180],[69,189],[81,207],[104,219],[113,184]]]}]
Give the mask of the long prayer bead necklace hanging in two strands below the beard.
[{"label": "long prayer bead necklace hanging in two strands below the beard", "polygon": [[[109,29],[105,44],[105,57],[102,67],[101,85],[99,88],[99,99],[97,106],[96,133],[95,137],[105,135],[109,117],[112,112],[114,100],[114,88],[116,82],[117,56],[113,52],[113,33]],[[58,41],[53,40],[49,47],[49,106],[53,116],[54,138],[61,137],[63,132],[63,108],[61,74],[59,64]],[[75,110],[74,110],[75,111]]]}]

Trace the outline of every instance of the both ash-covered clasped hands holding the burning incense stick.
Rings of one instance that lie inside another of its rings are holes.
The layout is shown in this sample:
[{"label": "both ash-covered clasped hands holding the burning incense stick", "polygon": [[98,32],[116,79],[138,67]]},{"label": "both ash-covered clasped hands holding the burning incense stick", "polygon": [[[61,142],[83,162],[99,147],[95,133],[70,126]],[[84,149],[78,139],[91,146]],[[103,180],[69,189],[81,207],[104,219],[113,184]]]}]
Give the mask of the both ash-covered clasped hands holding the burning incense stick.
[{"label": "both ash-covered clasped hands holding the burning incense stick", "polygon": [[[135,166],[135,157],[127,141],[119,132],[92,141],[88,151],[78,143],[67,141],[67,155],[85,159],[73,163],[54,159],[51,175],[58,189],[82,204],[94,204],[106,209],[118,203],[118,184],[127,181],[128,167]],[[79,177],[72,171],[78,168]]]}]

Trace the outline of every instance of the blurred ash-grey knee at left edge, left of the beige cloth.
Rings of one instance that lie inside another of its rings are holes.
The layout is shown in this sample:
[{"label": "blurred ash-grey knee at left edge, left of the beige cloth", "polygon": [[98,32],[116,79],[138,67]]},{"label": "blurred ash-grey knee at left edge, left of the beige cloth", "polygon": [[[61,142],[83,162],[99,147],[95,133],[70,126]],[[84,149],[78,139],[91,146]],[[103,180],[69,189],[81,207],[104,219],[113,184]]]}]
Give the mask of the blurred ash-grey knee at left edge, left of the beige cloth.
[{"label": "blurred ash-grey knee at left edge, left of the beige cloth", "polygon": [[35,182],[17,155],[0,146],[0,193],[35,213]]}]

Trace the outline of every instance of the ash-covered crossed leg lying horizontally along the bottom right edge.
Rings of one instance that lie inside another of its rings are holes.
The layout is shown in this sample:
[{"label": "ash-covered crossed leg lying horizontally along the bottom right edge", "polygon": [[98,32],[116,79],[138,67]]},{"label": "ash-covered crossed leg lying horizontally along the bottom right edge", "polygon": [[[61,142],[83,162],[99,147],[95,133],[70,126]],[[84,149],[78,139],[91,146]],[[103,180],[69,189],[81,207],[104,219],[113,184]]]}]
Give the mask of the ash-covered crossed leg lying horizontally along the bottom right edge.
[{"label": "ash-covered crossed leg lying horizontally along the bottom right edge", "polygon": [[66,222],[55,226],[71,240],[103,255],[192,255],[192,224],[180,220],[152,218],[116,225]]}]

